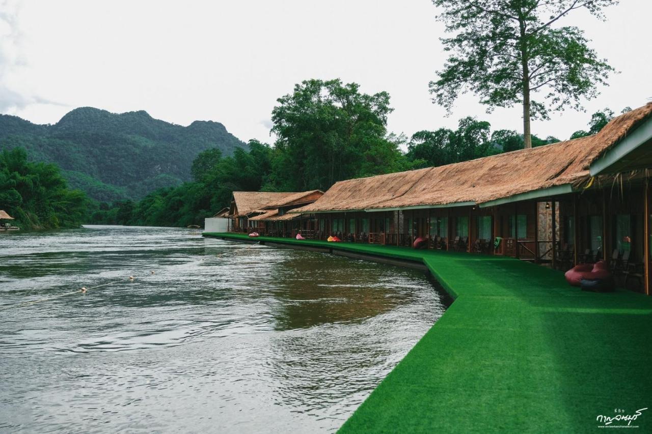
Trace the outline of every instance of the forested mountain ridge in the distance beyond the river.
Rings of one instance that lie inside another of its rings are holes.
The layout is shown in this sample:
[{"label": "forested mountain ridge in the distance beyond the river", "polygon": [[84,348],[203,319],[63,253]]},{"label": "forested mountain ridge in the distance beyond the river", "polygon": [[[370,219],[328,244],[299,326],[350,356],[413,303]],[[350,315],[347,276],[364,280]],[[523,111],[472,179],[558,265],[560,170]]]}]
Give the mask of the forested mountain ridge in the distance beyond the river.
[{"label": "forested mountain ridge in the distance beyond the river", "polygon": [[0,151],[14,147],[27,149],[31,160],[56,163],[70,186],[100,201],[140,199],[190,181],[192,160],[206,149],[225,156],[247,149],[218,122],[181,126],[142,110],[118,114],[92,107],[76,108],[52,125],[0,115]]}]

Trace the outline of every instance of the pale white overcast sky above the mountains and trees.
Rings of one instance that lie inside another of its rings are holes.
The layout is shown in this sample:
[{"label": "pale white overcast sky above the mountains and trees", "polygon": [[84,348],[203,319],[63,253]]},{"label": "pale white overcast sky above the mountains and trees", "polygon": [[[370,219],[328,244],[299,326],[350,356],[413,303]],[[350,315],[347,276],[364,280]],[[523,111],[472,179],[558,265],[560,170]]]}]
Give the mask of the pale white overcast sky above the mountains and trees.
[{"label": "pale white overcast sky above the mountains and trees", "polygon": [[[276,98],[310,78],[388,91],[389,130],[452,128],[466,115],[521,130],[520,107],[485,113],[460,98],[451,117],[432,104],[428,81],[445,55],[430,0],[21,1],[0,0],[0,113],[56,123],[93,106],[146,110],[187,125],[223,123],[235,136],[270,142]],[[533,134],[568,138],[590,113],[619,112],[652,97],[650,0],[623,0],[608,20],[574,12],[591,46],[620,74],[585,104],[533,123]]]}]

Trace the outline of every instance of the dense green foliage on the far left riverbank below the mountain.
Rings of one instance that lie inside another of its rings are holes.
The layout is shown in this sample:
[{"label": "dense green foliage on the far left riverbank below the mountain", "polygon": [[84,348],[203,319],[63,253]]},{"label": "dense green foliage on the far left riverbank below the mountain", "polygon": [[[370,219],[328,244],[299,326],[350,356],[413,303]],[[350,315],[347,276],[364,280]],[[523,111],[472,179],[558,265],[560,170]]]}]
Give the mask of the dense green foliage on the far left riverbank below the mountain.
[{"label": "dense green foliage on the far left riverbank below the mountain", "polygon": [[0,209],[22,229],[78,227],[87,198],[70,190],[55,164],[29,162],[25,149],[0,152]]}]

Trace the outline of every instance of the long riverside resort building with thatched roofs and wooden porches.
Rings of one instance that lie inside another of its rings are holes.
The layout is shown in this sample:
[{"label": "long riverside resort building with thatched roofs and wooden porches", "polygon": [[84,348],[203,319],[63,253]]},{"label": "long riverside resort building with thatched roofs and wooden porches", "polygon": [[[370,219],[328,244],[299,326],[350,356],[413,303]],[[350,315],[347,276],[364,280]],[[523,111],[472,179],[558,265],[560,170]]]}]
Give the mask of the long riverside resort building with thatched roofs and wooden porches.
[{"label": "long riverside resort building with thatched roofs and wooden porches", "polygon": [[649,295],[652,103],[598,134],[327,192],[234,192],[228,231],[504,255],[569,269],[604,259]]}]

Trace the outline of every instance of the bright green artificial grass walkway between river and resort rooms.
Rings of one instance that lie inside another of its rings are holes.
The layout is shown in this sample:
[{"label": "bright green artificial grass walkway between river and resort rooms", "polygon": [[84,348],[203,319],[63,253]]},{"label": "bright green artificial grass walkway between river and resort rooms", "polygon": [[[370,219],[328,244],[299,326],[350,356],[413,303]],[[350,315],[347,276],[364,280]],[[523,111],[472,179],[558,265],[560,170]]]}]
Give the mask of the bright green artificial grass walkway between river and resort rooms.
[{"label": "bright green artificial grass walkway between river and resort rooms", "polygon": [[595,432],[599,414],[645,407],[632,425],[652,432],[652,297],[587,293],[507,257],[256,240],[422,261],[455,298],[341,433]]}]

